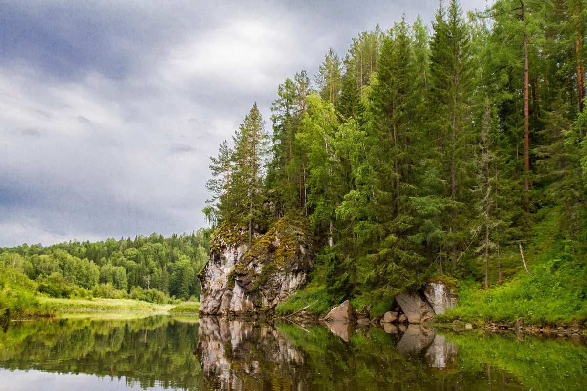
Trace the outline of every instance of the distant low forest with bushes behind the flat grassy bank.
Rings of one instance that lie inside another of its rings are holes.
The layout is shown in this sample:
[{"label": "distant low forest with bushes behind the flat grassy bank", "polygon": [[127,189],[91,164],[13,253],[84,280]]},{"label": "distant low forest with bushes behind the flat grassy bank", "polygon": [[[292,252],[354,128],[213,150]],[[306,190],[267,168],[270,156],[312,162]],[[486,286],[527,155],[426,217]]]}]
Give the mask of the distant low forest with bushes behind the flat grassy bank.
[{"label": "distant low forest with bushes behind the flat grassy bank", "polygon": [[163,304],[197,299],[196,275],[208,257],[209,230],[191,235],[151,234],[132,240],[69,241],[0,248],[0,268],[34,280],[38,292],[57,298],[133,298]]}]

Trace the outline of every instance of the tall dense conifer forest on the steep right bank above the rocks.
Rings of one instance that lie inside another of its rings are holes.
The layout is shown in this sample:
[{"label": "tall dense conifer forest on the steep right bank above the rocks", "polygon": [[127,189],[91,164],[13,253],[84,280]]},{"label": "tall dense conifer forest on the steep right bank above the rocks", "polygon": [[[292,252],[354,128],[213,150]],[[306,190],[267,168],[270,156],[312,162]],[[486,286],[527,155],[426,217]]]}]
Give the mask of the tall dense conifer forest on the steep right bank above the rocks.
[{"label": "tall dense conifer forest on the steep right bank above the rocks", "polygon": [[278,312],[383,312],[436,277],[470,307],[454,316],[585,319],[586,33],[584,0],[451,0],[431,28],[361,32],[279,85],[269,123],[252,106],[212,157],[204,213],[249,242],[309,219],[312,281]]}]

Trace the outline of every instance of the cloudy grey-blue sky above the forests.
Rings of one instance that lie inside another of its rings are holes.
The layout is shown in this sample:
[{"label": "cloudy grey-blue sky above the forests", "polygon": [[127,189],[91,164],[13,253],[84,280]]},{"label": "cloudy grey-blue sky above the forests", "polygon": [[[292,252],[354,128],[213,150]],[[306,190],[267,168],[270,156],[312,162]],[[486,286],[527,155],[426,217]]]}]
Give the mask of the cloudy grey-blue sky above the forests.
[{"label": "cloudy grey-blue sky above the forests", "polygon": [[[461,0],[463,9],[485,0]],[[0,246],[206,225],[210,155],[330,46],[436,0],[0,0]],[[270,129],[268,129],[270,130]]]}]

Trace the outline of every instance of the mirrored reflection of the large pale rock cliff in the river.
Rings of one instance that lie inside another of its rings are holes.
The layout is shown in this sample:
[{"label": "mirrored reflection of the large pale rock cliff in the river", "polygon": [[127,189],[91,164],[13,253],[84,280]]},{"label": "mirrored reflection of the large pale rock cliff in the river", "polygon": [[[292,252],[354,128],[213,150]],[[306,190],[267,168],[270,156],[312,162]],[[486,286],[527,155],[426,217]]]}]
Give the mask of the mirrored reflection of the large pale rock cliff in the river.
[{"label": "mirrored reflection of the large pale rock cliff in the river", "polygon": [[303,351],[271,326],[202,318],[196,353],[205,389],[307,390],[311,384]]}]

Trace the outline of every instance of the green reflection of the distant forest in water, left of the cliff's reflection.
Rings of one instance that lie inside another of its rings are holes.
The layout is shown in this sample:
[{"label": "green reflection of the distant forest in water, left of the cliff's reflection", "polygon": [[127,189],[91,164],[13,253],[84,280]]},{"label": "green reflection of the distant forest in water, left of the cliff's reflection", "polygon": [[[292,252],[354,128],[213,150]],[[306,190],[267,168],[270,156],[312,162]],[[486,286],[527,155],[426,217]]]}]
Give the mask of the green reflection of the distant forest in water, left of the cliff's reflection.
[{"label": "green reflection of the distant forest in water, left of the cliff's reflection", "polygon": [[126,377],[141,387],[200,389],[198,323],[145,319],[19,322],[0,332],[0,367]]}]

